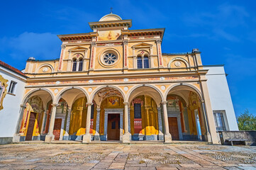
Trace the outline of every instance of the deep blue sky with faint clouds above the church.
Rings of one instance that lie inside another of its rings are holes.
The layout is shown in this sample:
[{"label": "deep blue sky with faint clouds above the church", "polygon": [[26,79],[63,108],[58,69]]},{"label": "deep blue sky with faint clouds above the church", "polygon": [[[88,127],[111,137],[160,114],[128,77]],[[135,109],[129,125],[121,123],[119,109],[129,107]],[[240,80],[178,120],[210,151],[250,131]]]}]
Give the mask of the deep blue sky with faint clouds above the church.
[{"label": "deep blue sky with faint clouds above the church", "polygon": [[256,115],[256,1],[1,1],[0,60],[23,69],[28,57],[60,57],[58,34],[90,32],[109,13],[130,29],[166,28],[162,52],[201,50],[203,64],[225,64],[236,115]]}]

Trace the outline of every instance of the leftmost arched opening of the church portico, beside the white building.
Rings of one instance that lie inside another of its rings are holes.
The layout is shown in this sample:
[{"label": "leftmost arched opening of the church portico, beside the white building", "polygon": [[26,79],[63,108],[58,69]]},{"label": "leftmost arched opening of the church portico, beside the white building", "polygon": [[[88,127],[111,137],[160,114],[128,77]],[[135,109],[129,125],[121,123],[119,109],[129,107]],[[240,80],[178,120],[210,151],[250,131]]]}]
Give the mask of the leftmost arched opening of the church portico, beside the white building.
[{"label": "leftmost arched opening of the church portico, beside the white building", "polygon": [[47,103],[52,103],[52,95],[45,90],[31,91],[24,98],[24,109],[21,122],[19,123],[20,141],[25,140],[44,140],[43,128],[44,118],[47,111]]}]

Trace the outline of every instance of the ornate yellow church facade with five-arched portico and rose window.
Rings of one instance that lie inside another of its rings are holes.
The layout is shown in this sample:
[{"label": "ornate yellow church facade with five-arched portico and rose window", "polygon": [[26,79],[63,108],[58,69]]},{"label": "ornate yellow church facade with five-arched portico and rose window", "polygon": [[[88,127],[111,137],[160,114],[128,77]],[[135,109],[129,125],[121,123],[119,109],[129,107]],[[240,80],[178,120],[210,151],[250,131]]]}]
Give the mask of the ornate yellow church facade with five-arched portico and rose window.
[{"label": "ornate yellow church facade with five-arched portico and rose window", "polygon": [[28,59],[13,142],[218,143],[216,127],[237,129],[233,111],[212,109],[211,68],[198,49],[162,53],[164,28],[130,30],[132,21],[113,13],[89,26],[91,33],[58,35],[59,59]]}]

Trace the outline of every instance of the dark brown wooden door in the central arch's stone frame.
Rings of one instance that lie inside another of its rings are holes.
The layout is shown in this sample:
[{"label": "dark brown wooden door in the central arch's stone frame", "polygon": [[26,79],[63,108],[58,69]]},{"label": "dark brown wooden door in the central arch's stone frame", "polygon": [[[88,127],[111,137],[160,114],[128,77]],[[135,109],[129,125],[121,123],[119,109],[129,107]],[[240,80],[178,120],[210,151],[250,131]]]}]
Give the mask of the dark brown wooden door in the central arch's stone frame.
[{"label": "dark brown wooden door in the central arch's stone frame", "polygon": [[108,140],[120,140],[120,114],[108,114]]}]

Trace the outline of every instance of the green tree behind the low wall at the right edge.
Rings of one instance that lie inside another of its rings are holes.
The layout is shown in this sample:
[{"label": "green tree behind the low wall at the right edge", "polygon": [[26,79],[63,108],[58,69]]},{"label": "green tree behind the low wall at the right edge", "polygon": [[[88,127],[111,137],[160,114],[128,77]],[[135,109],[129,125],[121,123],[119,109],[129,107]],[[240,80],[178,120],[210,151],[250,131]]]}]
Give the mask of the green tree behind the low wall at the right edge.
[{"label": "green tree behind the low wall at the right edge", "polygon": [[245,113],[238,116],[238,128],[239,130],[256,130],[256,116],[246,109]]}]

